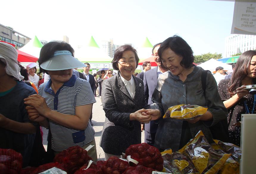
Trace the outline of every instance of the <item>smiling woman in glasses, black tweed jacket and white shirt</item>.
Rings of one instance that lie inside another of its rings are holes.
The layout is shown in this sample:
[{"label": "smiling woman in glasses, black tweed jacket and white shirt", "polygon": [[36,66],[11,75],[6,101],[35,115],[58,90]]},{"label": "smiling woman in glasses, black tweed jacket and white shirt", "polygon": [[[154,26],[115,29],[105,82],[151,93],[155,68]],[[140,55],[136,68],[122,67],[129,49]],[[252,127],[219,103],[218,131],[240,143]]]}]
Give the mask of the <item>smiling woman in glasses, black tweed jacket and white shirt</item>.
[{"label": "smiling woman in glasses, black tweed jacket and white shirt", "polygon": [[141,143],[141,123],[149,123],[152,118],[146,114],[150,105],[145,102],[143,81],[133,75],[138,61],[132,46],[119,47],[112,60],[118,73],[104,80],[102,85],[106,120],[100,146],[105,160],[110,156],[120,157],[129,145]]}]

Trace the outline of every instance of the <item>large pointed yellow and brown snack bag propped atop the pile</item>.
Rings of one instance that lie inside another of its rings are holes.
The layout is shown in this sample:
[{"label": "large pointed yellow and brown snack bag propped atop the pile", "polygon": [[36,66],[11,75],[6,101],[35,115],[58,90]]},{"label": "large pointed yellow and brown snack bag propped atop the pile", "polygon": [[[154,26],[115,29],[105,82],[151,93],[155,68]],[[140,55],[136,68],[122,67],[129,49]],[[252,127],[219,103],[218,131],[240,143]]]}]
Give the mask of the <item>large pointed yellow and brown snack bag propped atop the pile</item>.
[{"label": "large pointed yellow and brown snack bag propped atop the pile", "polygon": [[199,173],[217,173],[231,154],[218,154],[208,143],[202,131],[199,131],[179,152],[193,162]]}]

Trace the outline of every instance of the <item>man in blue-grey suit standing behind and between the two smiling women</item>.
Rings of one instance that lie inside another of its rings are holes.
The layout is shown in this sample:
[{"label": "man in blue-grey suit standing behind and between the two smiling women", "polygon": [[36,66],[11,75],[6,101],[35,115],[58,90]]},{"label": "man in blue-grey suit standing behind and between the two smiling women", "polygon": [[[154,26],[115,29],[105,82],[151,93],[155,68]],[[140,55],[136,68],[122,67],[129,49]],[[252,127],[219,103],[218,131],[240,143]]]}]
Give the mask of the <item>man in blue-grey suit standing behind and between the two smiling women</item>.
[{"label": "man in blue-grey suit standing behind and between the two smiling women", "polygon": [[[146,102],[148,102],[149,105],[153,104],[153,102],[151,101],[151,97],[157,85],[157,78],[159,77],[160,74],[167,71],[167,69],[165,69],[161,65],[161,63],[158,63],[157,61],[157,58],[158,58],[157,50],[160,47],[160,45],[161,43],[158,43],[154,45],[152,49],[154,61],[157,63],[158,66],[144,73],[144,79],[143,79],[144,94],[145,94],[145,100]],[[148,143],[149,145],[154,146],[154,139],[157,132],[158,124],[156,124],[156,121],[150,121],[149,123],[145,124],[144,127],[145,127],[145,140],[144,140],[145,143]]]}]

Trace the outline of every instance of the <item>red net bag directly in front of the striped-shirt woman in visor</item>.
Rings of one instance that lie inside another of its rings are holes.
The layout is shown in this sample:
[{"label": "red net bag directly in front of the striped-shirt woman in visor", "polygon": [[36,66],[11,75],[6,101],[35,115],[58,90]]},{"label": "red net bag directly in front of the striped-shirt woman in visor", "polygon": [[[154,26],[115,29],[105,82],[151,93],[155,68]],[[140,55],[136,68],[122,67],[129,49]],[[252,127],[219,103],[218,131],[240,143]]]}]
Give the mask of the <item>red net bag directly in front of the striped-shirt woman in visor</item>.
[{"label": "red net bag directly in front of the striped-shirt woman in visor", "polygon": [[57,154],[53,161],[59,162],[69,174],[73,174],[85,163],[88,163],[88,160],[92,160],[92,158],[87,155],[86,150],[79,146],[73,146]]}]

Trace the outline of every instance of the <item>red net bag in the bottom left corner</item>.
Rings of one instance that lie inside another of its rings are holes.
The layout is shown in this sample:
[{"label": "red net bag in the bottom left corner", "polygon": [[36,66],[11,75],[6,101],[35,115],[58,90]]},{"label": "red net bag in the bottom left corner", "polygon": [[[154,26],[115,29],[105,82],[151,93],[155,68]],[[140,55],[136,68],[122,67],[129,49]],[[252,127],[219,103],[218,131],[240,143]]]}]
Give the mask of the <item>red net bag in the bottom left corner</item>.
[{"label": "red net bag in the bottom left corner", "polygon": [[16,174],[22,168],[22,155],[13,149],[0,149],[0,173]]}]

